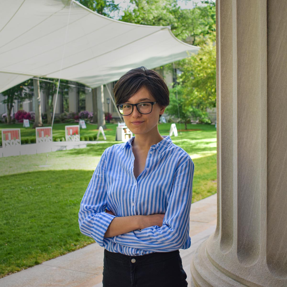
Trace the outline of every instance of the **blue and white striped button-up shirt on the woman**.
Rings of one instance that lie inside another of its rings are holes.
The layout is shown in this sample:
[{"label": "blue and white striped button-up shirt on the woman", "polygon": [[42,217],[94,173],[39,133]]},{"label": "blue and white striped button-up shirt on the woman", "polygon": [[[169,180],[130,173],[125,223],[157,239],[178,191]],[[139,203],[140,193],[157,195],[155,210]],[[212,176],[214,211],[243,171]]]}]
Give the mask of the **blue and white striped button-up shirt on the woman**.
[{"label": "blue and white striped button-up shirt on the woman", "polygon": [[[150,147],[146,166],[133,174],[133,138],[107,148],[82,199],[79,226],[108,251],[125,255],[168,252],[190,247],[189,212],[194,165],[169,136]],[[114,237],[104,234],[115,216],[165,214],[163,225]]]}]

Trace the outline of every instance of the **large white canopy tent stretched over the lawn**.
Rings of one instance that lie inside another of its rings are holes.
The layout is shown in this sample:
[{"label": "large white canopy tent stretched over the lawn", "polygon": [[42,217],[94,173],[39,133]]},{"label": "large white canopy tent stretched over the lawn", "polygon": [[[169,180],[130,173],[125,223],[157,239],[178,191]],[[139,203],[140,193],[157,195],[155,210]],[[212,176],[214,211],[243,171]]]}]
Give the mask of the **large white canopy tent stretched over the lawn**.
[{"label": "large white canopy tent stretched over the lawn", "polygon": [[95,88],[132,68],[159,67],[198,49],[169,27],[113,20],[74,0],[0,2],[0,92],[31,77]]}]

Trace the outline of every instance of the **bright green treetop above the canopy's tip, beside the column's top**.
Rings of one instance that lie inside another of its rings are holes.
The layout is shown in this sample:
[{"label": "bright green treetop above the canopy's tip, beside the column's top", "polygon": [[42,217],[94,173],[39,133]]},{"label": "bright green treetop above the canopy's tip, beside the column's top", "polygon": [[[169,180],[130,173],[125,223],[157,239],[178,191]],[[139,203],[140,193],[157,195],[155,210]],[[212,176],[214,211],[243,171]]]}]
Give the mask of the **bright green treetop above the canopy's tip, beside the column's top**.
[{"label": "bright green treetop above the canopy's tip, beside the column's top", "polygon": [[201,44],[215,31],[215,2],[201,1],[193,9],[181,9],[177,0],[131,0],[123,11],[121,21],[141,24],[170,26],[172,33],[184,42]]}]

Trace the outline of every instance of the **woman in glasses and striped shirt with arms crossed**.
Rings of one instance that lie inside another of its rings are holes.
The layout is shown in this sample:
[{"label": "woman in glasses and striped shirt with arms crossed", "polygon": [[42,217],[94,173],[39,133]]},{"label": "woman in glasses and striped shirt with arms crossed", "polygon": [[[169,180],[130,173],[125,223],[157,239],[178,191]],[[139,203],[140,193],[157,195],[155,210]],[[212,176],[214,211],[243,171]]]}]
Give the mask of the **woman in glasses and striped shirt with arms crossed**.
[{"label": "woman in glasses and striped shirt with arms crossed", "polygon": [[179,249],[190,247],[194,165],[158,131],[168,88],[140,67],[119,79],[114,95],[135,136],[104,151],[81,202],[80,230],[105,248],[104,287],[187,286]]}]

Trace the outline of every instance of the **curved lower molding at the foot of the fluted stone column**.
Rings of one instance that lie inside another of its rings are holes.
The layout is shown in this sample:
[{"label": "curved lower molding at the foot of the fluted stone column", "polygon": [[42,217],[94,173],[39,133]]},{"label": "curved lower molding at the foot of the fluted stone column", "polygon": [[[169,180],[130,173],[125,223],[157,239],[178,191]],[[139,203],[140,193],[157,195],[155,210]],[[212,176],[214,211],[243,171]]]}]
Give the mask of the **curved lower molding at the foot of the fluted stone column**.
[{"label": "curved lower molding at the foot of the fluted stone column", "polygon": [[246,287],[218,270],[206,255],[206,243],[204,241],[195,250],[191,261],[191,275],[195,287]]}]

